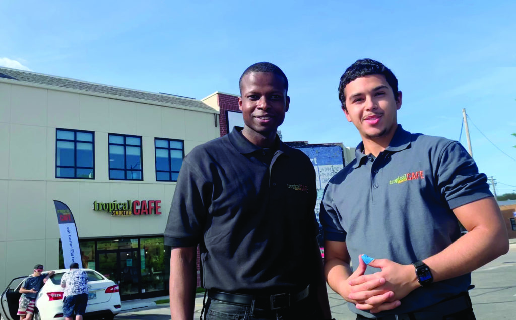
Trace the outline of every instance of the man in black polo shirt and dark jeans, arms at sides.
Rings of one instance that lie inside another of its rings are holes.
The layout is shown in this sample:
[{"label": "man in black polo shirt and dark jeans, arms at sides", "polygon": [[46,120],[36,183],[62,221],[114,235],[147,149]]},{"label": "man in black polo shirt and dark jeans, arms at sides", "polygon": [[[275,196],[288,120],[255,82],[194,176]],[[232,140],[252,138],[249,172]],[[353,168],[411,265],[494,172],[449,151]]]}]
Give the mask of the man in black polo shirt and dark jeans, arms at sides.
[{"label": "man in black polo shirt and dark jeans, arms at sides", "polygon": [[287,89],[276,65],[251,65],[238,98],[245,127],[185,157],[165,230],[174,320],[193,317],[198,243],[207,319],[330,318],[314,167],[276,134]]}]

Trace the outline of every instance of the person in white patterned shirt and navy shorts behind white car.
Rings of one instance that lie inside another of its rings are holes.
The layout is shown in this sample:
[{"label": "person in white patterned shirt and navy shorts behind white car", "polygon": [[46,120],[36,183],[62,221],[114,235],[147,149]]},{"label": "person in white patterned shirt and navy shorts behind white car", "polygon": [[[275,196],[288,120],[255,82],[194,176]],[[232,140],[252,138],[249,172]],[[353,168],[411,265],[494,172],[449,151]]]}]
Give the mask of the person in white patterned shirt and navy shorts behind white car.
[{"label": "person in white patterned shirt and navy shorts behind white car", "polygon": [[86,271],[79,269],[77,262],[70,264],[70,270],[61,278],[61,287],[65,288],[65,300],[63,300],[63,313],[66,320],[82,320],[88,304],[88,275]]}]

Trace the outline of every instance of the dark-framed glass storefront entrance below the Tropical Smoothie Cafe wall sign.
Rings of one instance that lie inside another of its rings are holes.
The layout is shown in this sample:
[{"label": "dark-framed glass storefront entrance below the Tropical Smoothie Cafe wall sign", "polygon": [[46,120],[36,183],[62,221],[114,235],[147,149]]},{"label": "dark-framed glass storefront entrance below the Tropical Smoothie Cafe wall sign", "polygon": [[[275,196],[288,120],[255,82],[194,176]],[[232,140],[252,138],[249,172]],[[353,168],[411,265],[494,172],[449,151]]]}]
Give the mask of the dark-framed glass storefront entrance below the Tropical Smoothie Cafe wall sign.
[{"label": "dark-framed glass storefront entrance below the Tropical Smoothie Cafe wall sign", "polygon": [[[122,300],[168,295],[170,248],[162,237],[79,240],[83,267],[118,283]],[[59,241],[59,267],[67,268]]]}]

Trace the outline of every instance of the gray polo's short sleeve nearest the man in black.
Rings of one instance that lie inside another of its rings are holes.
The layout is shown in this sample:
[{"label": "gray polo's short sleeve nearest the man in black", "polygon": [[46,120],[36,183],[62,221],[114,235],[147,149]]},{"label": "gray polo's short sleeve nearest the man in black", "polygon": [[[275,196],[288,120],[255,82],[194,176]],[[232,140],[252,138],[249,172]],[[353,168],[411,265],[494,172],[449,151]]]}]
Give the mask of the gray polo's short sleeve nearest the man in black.
[{"label": "gray polo's short sleeve nearest the man in black", "polygon": [[327,184],[322,196],[319,220],[324,232],[324,240],[346,241],[346,231],[342,228],[339,213],[333,201],[333,185]]}]

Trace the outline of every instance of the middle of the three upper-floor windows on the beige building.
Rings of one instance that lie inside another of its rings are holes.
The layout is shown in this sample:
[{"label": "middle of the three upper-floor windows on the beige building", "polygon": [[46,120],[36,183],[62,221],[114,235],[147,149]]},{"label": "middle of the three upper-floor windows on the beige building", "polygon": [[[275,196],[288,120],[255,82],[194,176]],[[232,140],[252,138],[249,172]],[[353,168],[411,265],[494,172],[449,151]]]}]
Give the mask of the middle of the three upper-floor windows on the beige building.
[{"label": "middle of the three upper-floor windows on the beige building", "polygon": [[143,180],[141,137],[109,133],[109,179]]}]

